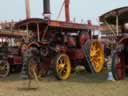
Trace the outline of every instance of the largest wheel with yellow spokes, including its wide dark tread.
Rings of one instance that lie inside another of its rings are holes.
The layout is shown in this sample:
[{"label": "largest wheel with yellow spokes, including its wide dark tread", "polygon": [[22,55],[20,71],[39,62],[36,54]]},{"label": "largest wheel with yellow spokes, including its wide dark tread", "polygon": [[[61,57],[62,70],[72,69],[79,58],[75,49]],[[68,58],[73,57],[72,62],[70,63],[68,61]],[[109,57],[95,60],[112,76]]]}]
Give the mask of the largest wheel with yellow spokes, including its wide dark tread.
[{"label": "largest wheel with yellow spokes, including its wide dark tread", "polygon": [[87,61],[86,68],[91,72],[100,72],[104,65],[104,51],[102,45],[97,40],[88,40],[83,45],[84,55]]}]

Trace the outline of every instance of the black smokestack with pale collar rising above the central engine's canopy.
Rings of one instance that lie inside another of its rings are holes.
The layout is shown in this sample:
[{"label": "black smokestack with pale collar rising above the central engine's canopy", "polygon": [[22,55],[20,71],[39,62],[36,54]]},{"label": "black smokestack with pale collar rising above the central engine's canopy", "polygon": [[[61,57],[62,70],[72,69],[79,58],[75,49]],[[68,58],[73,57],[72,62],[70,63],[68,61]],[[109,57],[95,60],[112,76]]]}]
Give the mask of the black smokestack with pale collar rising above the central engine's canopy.
[{"label": "black smokestack with pale collar rising above the central engine's canopy", "polygon": [[43,12],[43,16],[44,19],[50,19],[50,0],[43,0],[43,5],[44,5],[44,12]]}]

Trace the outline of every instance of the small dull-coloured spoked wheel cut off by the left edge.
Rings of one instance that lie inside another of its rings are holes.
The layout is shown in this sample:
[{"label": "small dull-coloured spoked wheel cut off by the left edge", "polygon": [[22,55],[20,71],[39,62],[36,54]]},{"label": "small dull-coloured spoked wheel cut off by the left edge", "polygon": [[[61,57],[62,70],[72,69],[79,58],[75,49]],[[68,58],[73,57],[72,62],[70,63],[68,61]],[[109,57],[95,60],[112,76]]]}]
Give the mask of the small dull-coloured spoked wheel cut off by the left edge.
[{"label": "small dull-coloured spoked wheel cut off by the left edge", "polygon": [[6,77],[9,74],[10,66],[8,62],[2,61],[0,63],[0,77]]}]

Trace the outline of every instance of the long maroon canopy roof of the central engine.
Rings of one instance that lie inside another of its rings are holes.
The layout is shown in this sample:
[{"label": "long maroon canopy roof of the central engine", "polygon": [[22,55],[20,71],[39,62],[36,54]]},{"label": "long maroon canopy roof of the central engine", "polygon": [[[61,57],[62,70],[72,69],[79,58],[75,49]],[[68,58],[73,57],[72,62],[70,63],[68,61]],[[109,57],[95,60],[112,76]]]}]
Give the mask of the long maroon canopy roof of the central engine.
[{"label": "long maroon canopy roof of the central engine", "polygon": [[65,29],[81,29],[81,30],[99,30],[99,26],[98,25],[88,25],[88,24],[81,24],[81,23],[72,23],[72,22],[63,22],[63,21],[55,21],[55,20],[44,20],[41,18],[30,18],[27,20],[23,20],[20,22],[17,22],[15,24],[15,27],[21,27],[23,29],[26,29],[26,24],[27,22],[29,22],[29,26],[36,26],[36,24],[40,24],[41,26],[45,27],[45,26],[49,26],[49,27],[56,27],[56,28],[65,28]]}]

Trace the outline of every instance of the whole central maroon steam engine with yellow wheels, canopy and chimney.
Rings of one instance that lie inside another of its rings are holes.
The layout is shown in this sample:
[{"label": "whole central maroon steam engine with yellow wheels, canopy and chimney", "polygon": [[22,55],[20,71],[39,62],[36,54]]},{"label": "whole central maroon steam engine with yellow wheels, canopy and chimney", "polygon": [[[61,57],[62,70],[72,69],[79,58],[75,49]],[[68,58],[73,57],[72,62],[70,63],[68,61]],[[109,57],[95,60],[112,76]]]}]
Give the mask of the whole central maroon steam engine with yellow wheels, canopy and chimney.
[{"label": "whole central maroon steam engine with yellow wheels, canopy and chimney", "polygon": [[[65,5],[69,8],[67,2]],[[49,0],[44,0],[44,19],[29,18],[15,25],[31,31],[23,58],[24,78],[38,78],[53,70],[57,79],[66,80],[77,65],[85,66],[89,72],[102,70],[103,49],[92,38],[97,26],[71,23],[66,12],[66,22],[50,20]]]}]

